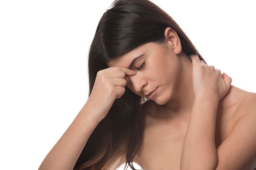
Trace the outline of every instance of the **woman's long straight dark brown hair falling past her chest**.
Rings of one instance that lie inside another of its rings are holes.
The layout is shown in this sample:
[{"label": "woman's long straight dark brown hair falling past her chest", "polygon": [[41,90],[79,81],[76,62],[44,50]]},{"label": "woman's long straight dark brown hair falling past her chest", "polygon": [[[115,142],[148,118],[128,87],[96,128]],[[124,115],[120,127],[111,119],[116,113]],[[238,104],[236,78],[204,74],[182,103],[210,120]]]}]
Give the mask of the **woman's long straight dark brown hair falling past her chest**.
[{"label": "woman's long straight dark brown hair falling past her chest", "polygon": [[[176,31],[183,52],[188,56],[196,54],[204,61],[180,26],[153,2],[115,0],[111,8],[103,13],[90,46],[89,97],[97,72],[108,68],[108,61],[148,42],[164,42],[167,27]],[[127,86],[125,90],[90,135],[74,170],[87,170],[92,166],[104,170],[121,146],[126,150],[126,166],[136,170],[132,160],[141,147],[145,125],[140,105],[147,100]]]}]

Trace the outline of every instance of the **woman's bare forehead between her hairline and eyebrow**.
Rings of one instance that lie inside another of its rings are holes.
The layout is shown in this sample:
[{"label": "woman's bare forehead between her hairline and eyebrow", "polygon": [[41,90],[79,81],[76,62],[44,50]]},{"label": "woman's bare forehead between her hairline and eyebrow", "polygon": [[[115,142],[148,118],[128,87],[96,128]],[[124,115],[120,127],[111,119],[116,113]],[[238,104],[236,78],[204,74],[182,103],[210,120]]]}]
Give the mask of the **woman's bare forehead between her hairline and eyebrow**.
[{"label": "woman's bare forehead between her hairline and eyebrow", "polygon": [[155,44],[151,42],[143,44],[142,46],[139,46],[119,57],[116,57],[115,59],[108,61],[107,65],[108,67],[122,66],[122,67],[128,68],[128,66],[130,65],[133,59],[135,59],[136,57],[139,57],[141,54],[149,52],[149,50],[153,49],[153,46],[155,46]]}]

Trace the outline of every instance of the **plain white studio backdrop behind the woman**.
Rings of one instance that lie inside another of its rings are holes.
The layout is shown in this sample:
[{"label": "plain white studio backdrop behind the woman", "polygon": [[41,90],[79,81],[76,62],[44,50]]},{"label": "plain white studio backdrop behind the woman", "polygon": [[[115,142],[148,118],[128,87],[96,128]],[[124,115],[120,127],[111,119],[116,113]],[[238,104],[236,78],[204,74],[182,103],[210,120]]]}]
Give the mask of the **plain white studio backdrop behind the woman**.
[{"label": "plain white studio backdrop behind the woman", "polygon": [[[254,1],[152,0],[208,65],[256,92]],[[0,169],[35,170],[88,99],[88,51],[112,0],[0,1]]]}]

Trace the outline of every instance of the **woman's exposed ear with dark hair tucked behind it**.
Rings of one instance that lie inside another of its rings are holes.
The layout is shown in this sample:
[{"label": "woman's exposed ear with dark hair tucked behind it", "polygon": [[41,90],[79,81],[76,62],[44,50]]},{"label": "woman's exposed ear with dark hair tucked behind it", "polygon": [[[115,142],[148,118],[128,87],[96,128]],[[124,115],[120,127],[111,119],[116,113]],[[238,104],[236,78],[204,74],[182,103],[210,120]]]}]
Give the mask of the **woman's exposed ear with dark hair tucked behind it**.
[{"label": "woman's exposed ear with dark hair tucked behind it", "polygon": [[164,36],[167,41],[167,46],[175,52],[175,54],[179,54],[182,50],[181,44],[180,44],[180,38],[177,35],[176,31],[174,31],[172,28],[167,27],[164,31]]}]

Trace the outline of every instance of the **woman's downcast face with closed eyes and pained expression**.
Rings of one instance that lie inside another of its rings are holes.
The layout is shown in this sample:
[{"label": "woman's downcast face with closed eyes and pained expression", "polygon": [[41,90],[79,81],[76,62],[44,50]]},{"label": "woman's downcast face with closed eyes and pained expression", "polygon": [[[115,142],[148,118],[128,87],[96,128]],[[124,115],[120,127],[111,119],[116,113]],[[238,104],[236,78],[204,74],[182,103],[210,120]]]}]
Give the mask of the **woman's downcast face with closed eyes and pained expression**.
[{"label": "woman's downcast face with closed eyes and pained expression", "polygon": [[[156,93],[150,100],[163,105],[171,98],[180,72],[180,60],[176,53],[181,51],[177,44],[179,39],[166,40],[164,44],[146,43],[133,49],[121,57],[108,62],[108,66],[122,66],[128,68],[132,60],[139,57],[132,66],[137,74],[128,76],[127,87],[135,94],[148,98],[148,94],[155,89]],[[172,42],[173,41],[173,42]]]}]

